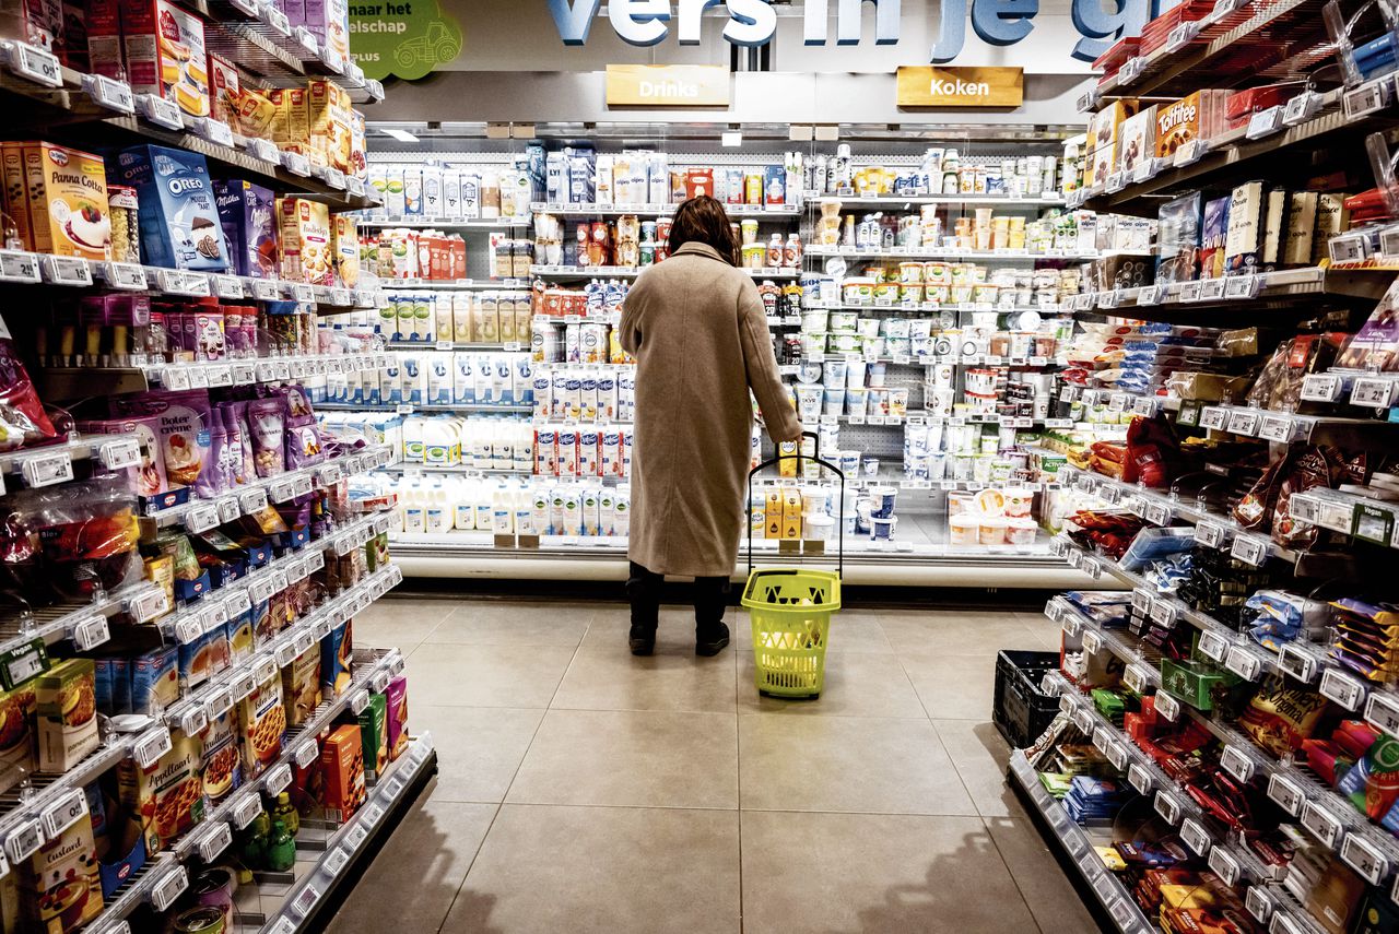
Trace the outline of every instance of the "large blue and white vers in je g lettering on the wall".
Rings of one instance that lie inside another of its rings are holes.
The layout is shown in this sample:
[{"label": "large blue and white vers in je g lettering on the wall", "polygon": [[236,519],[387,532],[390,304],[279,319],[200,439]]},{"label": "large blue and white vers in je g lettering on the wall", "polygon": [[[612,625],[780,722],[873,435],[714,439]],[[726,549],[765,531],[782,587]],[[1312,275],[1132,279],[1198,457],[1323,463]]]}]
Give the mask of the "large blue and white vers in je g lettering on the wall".
[{"label": "large blue and white vers in je g lettering on the wall", "polygon": [[[830,42],[830,7],[837,6],[835,42],[853,45],[862,39],[860,7],[872,1],[874,14],[874,42],[897,45],[900,31],[900,0],[806,0],[803,7],[803,36],[806,45],[824,46]],[[1083,36],[1070,55],[1093,62],[1108,50],[1118,38],[1137,35],[1156,15],[1160,0],[1119,0],[1107,13],[1101,0],[1072,0],[1073,25]],[[679,6],[679,13],[676,13]],[[700,45],[700,20],[705,8],[723,6],[729,21],[723,27],[725,41],[739,46],[761,46],[772,41],[778,28],[776,11],[768,0],[609,0],[607,20],[617,35],[631,45],[651,46],[666,39],[674,24],[680,45]],[[932,4],[929,4],[932,6]],[[956,59],[967,41],[967,21],[982,42],[1009,46],[1020,42],[1034,29],[1039,0],[942,0],[937,42],[929,62]],[[592,29],[602,0],[548,0],[550,13],[565,45],[583,45]]]}]

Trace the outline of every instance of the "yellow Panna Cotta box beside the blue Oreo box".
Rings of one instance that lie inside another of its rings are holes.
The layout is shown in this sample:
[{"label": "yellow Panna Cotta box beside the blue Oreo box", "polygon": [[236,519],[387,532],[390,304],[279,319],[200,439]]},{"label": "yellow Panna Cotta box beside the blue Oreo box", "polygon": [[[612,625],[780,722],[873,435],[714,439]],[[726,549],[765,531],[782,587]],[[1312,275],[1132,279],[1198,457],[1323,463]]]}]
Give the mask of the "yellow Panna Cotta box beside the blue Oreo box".
[{"label": "yellow Panna Cotta box beside the blue Oreo box", "polygon": [[24,143],[31,249],[112,259],[112,215],[102,157],[52,143]]}]

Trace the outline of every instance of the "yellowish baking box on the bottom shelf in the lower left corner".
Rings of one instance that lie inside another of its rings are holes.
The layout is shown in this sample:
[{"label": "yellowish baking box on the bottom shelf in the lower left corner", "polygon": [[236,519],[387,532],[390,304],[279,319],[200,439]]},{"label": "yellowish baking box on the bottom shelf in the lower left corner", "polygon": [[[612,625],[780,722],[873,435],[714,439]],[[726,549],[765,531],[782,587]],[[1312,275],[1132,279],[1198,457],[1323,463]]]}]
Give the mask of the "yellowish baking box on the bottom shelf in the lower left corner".
[{"label": "yellowish baking box on the bottom shelf in the lower left corner", "polygon": [[70,934],[102,913],[92,821],[85,814],[15,868],[21,917],[17,930]]}]

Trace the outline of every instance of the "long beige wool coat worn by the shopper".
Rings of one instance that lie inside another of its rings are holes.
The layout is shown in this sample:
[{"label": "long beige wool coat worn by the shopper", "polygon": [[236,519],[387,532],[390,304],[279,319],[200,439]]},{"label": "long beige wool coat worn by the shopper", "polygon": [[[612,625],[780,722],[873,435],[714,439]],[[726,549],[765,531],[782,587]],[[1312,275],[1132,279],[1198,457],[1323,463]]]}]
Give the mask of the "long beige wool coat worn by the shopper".
[{"label": "long beige wool coat worn by the shopper", "polygon": [[713,247],[686,243],[627,294],[621,345],[637,358],[628,554],[656,573],[727,577],[746,515],[748,390],[774,442],[802,432],[758,289]]}]

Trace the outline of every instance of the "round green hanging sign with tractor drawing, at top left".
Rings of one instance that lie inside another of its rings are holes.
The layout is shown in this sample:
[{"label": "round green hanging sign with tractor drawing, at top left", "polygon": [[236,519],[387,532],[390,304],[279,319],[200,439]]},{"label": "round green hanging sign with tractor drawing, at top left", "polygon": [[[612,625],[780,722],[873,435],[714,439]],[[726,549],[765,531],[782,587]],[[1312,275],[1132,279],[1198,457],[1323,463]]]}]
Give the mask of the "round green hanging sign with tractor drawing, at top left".
[{"label": "round green hanging sign with tractor drawing, at top left", "polygon": [[462,27],[439,0],[350,4],[350,55],[365,76],[421,78],[462,52]]}]

